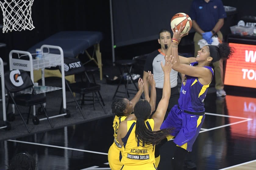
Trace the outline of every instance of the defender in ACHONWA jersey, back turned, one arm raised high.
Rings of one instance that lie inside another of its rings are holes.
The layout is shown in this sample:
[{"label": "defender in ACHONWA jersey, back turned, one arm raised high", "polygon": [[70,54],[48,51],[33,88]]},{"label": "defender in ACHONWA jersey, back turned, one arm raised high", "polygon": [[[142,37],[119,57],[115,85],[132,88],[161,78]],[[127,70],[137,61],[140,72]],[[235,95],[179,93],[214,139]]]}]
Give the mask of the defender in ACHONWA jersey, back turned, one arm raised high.
[{"label": "defender in ACHONWA jersey, back turned, one arm raised high", "polygon": [[172,57],[165,56],[165,64],[161,62],[164,72],[163,95],[152,119],[151,105],[147,100],[139,100],[134,107],[135,120],[124,120],[119,124],[117,139],[123,147],[122,170],[153,170],[155,167],[155,144],[166,138],[171,129],[162,129],[165,112],[171,94],[170,71],[172,70]]}]

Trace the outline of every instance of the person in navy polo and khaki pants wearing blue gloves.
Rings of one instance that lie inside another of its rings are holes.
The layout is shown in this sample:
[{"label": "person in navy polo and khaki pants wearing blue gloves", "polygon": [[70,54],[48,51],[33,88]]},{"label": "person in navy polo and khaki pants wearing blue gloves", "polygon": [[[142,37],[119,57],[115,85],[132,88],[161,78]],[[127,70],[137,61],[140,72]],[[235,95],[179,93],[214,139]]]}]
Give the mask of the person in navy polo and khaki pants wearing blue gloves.
[{"label": "person in navy polo and khaki pants wearing blue gloves", "polygon": [[[219,40],[223,40],[222,33],[219,31],[226,18],[226,12],[221,0],[194,0],[192,2],[190,13],[192,19],[192,27],[196,33],[194,35],[195,56],[200,46],[197,42],[205,39],[208,44],[212,44],[212,37],[218,36]],[[223,90],[223,61],[219,60],[212,63],[215,74],[215,89],[218,97],[226,96]]]}]

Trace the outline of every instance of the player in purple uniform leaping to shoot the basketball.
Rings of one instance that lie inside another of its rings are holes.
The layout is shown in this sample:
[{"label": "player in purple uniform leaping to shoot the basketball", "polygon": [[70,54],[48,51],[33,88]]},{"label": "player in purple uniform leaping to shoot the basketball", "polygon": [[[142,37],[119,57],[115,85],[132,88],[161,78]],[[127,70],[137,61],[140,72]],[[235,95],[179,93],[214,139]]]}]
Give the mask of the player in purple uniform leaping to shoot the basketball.
[{"label": "player in purple uniform leaping to shoot the basketball", "polygon": [[[177,146],[172,158],[172,169],[175,170],[183,169],[184,158],[188,152],[192,151],[194,141],[204,122],[204,98],[213,77],[213,69],[209,65],[220,59],[228,59],[233,54],[233,49],[225,43],[218,47],[207,45],[198,51],[196,62],[183,64],[187,62],[184,61],[186,59],[179,59],[176,41],[182,36],[180,34],[182,27],[184,28],[181,25],[176,32],[172,30],[173,41],[167,55],[172,54],[173,62],[176,61],[172,69],[185,74],[185,77],[180,89],[178,104],[172,107],[161,125],[161,129],[174,127],[170,135],[172,138],[175,137],[173,141]],[[176,26],[175,28],[177,30]]]}]

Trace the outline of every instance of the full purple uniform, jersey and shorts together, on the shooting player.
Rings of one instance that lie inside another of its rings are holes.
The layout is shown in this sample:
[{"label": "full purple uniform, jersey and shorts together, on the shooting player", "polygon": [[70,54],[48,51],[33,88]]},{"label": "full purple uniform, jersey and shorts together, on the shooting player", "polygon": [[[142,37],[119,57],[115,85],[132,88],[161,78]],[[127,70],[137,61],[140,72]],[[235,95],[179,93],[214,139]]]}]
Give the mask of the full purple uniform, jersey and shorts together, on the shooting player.
[{"label": "full purple uniform, jersey and shorts together, on the shooting player", "polygon": [[[195,64],[197,62],[190,63],[190,66]],[[213,77],[212,67],[204,67],[211,71]],[[203,102],[209,84],[202,85],[197,77],[185,75],[180,89],[179,105],[172,107],[160,127],[160,129],[174,128],[170,138],[175,136],[173,142],[190,152],[204,122]]]}]

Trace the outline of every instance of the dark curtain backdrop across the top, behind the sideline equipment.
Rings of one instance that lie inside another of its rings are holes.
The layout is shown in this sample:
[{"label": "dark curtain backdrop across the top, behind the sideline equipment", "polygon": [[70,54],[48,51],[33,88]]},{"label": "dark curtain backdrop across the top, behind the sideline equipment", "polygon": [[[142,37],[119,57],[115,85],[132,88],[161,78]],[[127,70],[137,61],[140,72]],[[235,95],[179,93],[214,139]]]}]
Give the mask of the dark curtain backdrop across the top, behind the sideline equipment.
[{"label": "dark curtain backdrop across the top, behind the sideline equipment", "polygon": [[[170,29],[170,19],[177,12],[189,13],[191,2],[192,0],[112,0],[115,44],[118,47],[115,49],[116,56],[120,59],[126,56],[132,58],[157,49],[159,30],[164,27]],[[256,15],[255,0],[222,2],[226,6],[237,8],[237,17],[232,21],[244,15]],[[3,23],[2,17],[0,14],[0,24]],[[102,59],[103,62],[112,59],[109,0],[34,0],[32,20],[35,29],[31,31],[2,33],[1,30],[0,42],[7,44],[5,48],[0,48],[0,57],[4,61],[9,61],[12,49],[27,50],[56,32],[75,30],[103,32],[100,43]],[[193,36],[190,38],[193,40]],[[154,43],[148,44],[146,41]],[[130,45],[124,46],[125,44]]]}]

